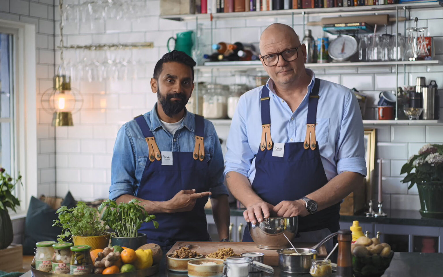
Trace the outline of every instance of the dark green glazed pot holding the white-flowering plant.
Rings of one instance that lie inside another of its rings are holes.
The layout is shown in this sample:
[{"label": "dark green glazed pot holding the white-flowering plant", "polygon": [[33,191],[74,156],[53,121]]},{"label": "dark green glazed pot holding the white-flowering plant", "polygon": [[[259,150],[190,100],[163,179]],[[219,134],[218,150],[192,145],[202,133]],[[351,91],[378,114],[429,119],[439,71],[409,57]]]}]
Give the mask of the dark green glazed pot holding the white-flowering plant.
[{"label": "dark green glazed pot holding the white-flowering plant", "polygon": [[420,197],[420,214],[427,218],[443,219],[443,183],[417,184]]}]

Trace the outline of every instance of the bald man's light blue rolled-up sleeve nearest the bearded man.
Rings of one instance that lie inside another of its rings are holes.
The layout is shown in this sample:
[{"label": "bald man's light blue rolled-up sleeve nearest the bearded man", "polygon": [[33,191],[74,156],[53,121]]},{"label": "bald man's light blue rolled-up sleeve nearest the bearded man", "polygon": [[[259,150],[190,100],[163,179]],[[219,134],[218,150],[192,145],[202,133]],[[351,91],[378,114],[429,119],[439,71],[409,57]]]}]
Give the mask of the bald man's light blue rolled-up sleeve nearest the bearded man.
[{"label": "bald man's light blue rolled-up sleeve nearest the bearded man", "polygon": [[245,124],[246,110],[246,100],[245,95],[243,95],[238,101],[237,109],[229,128],[228,140],[226,140],[225,175],[233,171],[249,177],[249,169],[251,168],[251,162],[255,153],[249,147]]}]

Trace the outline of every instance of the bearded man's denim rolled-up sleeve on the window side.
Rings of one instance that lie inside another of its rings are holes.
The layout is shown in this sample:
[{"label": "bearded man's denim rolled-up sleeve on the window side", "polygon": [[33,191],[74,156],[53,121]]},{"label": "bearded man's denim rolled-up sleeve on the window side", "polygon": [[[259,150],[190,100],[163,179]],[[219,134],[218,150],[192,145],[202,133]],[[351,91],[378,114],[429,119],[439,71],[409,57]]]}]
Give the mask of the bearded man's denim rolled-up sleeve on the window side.
[{"label": "bearded man's denim rolled-up sleeve on the window side", "polygon": [[109,199],[116,200],[124,194],[134,195],[135,171],[135,149],[126,125],[123,125],[117,133],[114,144]]}]

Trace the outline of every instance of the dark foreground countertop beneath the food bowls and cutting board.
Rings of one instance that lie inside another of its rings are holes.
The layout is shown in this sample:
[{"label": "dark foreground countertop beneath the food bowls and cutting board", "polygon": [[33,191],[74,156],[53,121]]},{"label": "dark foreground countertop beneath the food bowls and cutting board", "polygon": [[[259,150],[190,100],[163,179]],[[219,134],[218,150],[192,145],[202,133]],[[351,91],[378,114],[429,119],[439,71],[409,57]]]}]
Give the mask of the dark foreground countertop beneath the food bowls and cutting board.
[{"label": "dark foreground countertop beneath the food bowls and cutting board", "polygon": [[[187,273],[175,273],[168,271],[165,265],[165,257],[162,259],[159,273],[153,277],[187,277]],[[386,269],[382,277],[440,277],[442,276],[443,254],[442,253],[395,253],[391,265]],[[304,276],[310,274],[285,274],[280,273],[278,267],[273,276],[291,277]],[[250,273],[249,277],[272,276],[268,273]],[[334,277],[335,274],[333,273]],[[22,277],[32,277],[31,271],[23,274]]]}]

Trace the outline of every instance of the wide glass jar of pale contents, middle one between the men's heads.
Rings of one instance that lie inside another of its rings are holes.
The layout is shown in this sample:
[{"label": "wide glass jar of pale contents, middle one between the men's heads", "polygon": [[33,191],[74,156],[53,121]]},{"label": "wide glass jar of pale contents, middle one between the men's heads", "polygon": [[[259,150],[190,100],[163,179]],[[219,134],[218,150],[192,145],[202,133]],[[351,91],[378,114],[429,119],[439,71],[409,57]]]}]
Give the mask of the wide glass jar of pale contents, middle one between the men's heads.
[{"label": "wide glass jar of pale contents, middle one between the men's heads", "polygon": [[208,119],[221,119],[227,116],[227,100],[221,84],[207,84],[203,95],[203,116]]}]

